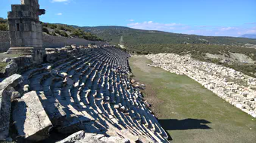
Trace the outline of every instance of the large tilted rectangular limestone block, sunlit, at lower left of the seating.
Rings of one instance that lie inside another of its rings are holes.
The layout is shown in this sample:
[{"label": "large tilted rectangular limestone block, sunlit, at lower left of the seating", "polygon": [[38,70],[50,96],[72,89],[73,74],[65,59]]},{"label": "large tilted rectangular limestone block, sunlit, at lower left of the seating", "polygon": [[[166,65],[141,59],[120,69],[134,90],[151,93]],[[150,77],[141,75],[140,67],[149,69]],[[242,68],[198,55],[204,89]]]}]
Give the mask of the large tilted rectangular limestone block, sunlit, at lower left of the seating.
[{"label": "large tilted rectangular limestone block, sunlit, at lower left of the seating", "polygon": [[19,135],[30,141],[48,137],[52,123],[48,118],[36,91],[26,93],[14,102],[13,120]]}]

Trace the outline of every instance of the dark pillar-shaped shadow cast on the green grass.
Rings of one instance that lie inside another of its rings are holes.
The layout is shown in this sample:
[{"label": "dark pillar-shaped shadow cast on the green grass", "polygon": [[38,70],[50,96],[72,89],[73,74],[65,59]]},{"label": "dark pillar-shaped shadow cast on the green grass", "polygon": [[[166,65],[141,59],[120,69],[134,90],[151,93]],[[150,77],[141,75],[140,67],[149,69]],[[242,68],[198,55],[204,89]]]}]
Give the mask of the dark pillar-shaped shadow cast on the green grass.
[{"label": "dark pillar-shaped shadow cast on the green grass", "polygon": [[161,119],[158,120],[161,126],[165,130],[186,130],[186,129],[211,129],[207,123],[211,123],[208,120],[198,119]]}]

